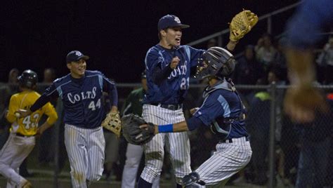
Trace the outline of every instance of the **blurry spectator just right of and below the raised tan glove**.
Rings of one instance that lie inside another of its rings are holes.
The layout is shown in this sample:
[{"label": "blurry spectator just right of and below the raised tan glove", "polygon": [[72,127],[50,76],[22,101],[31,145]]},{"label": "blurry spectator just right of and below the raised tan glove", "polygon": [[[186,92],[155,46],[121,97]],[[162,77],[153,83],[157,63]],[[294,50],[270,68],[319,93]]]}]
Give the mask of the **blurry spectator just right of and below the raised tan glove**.
[{"label": "blurry spectator just right of and below the raised tan glove", "polygon": [[262,39],[263,45],[259,46],[258,51],[256,51],[256,59],[261,63],[263,69],[267,71],[268,66],[274,61],[277,51],[273,46],[272,36],[270,36],[270,34],[263,34]]}]

